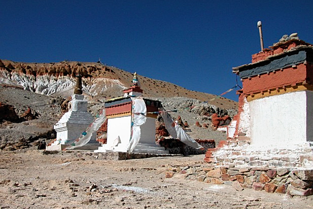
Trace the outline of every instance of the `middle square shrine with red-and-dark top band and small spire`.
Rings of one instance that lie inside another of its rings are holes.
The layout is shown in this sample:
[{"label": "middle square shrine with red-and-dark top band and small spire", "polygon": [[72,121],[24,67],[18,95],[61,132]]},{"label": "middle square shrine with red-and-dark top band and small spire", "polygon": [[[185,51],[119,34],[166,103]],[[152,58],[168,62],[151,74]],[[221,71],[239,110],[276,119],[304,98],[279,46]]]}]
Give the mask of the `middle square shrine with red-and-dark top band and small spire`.
[{"label": "middle square shrine with red-and-dark top band and small spire", "polygon": [[[124,97],[111,99],[105,102],[105,115],[107,118],[107,143],[103,144],[95,152],[127,152],[132,135],[135,134],[134,108],[135,98],[141,98],[143,90],[135,72],[133,85],[124,90]],[[138,102],[136,102],[138,103]],[[161,107],[161,102],[142,99],[147,113],[144,124],[140,126],[139,141],[135,146],[134,153],[168,154],[169,151],[155,143],[155,119],[156,112]]]}]

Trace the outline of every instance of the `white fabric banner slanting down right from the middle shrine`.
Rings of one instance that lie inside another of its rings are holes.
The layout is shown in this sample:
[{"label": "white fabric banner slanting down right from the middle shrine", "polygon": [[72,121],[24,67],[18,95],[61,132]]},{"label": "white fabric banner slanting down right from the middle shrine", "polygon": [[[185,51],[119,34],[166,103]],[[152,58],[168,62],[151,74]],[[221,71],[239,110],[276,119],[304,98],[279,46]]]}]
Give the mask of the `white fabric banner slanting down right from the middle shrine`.
[{"label": "white fabric banner slanting down right from the middle shrine", "polygon": [[171,118],[169,113],[167,112],[161,112],[161,116],[164,119],[165,127],[168,130],[169,134],[174,139],[179,139],[181,142],[187,144],[188,146],[191,146],[195,149],[201,149],[203,146],[201,146],[197,141],[190,138],[186,132],[178,126],[177,123],[174,122],[174,120]]}]

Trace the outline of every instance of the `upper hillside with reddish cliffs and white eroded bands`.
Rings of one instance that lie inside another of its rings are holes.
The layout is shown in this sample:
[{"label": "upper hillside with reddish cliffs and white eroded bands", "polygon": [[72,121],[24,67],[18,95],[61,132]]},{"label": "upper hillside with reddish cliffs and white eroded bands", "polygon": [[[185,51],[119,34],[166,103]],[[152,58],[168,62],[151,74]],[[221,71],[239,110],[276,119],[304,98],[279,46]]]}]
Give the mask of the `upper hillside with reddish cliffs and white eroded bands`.
[{"label": "upper hillside with reddish cliffs and white eroded bands", "polygon": [[[83,92],[90,99],[105,101],[123,95],[130,87],[133,74],[101,63],[17,63],[0,60],[0,84],[17,85],[38,94],[67,98],[73,92],[74,77],[83,76]],[[190,91],[173,83],[138,76],[145,97],[185,97],[209,101],[216,95]],[[237,109],[237,103],[226,98],[210,101],[219,108]]]}]

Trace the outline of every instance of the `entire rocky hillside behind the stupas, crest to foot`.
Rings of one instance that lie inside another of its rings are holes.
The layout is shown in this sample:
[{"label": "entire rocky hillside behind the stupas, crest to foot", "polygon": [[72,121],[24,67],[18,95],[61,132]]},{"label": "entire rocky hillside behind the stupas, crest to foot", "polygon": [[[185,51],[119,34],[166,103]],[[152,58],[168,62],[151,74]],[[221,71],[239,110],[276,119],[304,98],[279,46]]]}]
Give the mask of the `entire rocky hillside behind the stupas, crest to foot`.
[{"label": "entire rocky hillside behind the stupas, crest to foot", "polygon": [[[35,148],[39,141],[55,139],[53,125],[68,111],[76,73],[83,75],[83,94],[94,115],[104,101],[123,95],[133,74],[100,63],[16,63],[0,60],[0,149]],[[213,113],[237,113],[237,103],[215,95],[190,91],[175,84],[138,76],[144,96],[159,100],[173,118],[181,117],[194,139],[226,138],[211,127]],[[157,122],[158,124],[159,122]]]}]

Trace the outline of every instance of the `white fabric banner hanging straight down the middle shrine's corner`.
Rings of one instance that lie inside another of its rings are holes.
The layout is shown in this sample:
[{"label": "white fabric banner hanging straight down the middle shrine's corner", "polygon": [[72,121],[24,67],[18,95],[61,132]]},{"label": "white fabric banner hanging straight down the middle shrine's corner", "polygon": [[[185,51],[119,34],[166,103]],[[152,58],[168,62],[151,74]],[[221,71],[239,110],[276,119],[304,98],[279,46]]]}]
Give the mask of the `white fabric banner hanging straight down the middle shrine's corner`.
[{"label": "white fabric banner hanging straight down the middle shrine's corner", "polygon": [[132,98],[132,134],[128,144],[128,151],[132,152],[140,139],[140,126],[145,123],[147,108],[141,97]]}]

